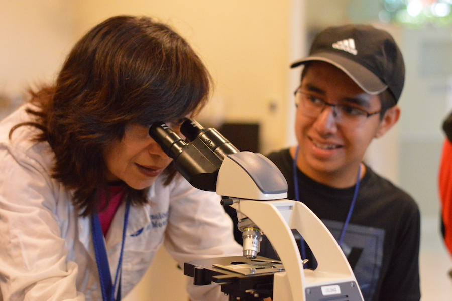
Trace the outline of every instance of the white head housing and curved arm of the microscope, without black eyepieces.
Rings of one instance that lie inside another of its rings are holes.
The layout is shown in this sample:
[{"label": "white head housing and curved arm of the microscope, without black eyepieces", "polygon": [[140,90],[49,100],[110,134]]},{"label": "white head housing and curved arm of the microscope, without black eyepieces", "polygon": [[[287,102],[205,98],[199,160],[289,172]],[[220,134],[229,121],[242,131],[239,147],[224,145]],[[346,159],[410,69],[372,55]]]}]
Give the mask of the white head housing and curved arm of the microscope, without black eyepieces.
[{"label": "white head housing and curved arm of the microscope, without black eyepieces", "polygon": [[[250,168],[247,158],[262,155],[246,153],[249,152],[228,155],[223,160],[216,192],[234,201],[231,206],[267,235],[280,257],[285,271],[274,273],[273,301],[327,297],[331,297],[328,300],[339,300],[332,297],[343,300],[345,295],[347,300],[363,300],[347,258],[326,226],[303,203],[282,199],[287,196],[286,192],[266,192],[263,186],[271,171]],[[242,154],[247,156],[240,156]],[[253,174],[254,171],[261,177]],[[318,262],[315,270],[303,268],[291,229],[296,229],[311,248]]]}]

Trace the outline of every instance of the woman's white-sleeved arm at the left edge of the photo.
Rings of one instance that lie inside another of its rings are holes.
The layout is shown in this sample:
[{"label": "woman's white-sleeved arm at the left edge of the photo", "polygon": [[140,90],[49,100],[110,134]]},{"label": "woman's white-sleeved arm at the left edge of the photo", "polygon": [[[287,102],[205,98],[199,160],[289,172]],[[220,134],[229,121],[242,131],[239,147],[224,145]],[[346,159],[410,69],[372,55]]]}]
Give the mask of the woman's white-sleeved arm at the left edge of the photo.
[{"label": "woman's white-sleeved arm at the left edge of the photo", "polygon": [[0,292],[3,301],[84,300],[66,260],[50,179],[25,154],[0,145]]}]

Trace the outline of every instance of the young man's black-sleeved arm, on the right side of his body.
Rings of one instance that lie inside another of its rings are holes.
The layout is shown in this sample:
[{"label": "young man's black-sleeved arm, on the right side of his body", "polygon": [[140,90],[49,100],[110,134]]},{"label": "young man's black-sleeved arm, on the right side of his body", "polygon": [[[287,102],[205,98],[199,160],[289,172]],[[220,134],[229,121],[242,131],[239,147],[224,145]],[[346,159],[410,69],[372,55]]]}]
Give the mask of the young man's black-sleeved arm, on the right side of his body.
[{"label": "young man's black-sleeved arm, on the right side of his body", "polygon": [[[418,301],[420,213],[417,207],[401,213],[399,234],[383,278],[380,301]],[[385,254],[383,255],[385,256]]]}]

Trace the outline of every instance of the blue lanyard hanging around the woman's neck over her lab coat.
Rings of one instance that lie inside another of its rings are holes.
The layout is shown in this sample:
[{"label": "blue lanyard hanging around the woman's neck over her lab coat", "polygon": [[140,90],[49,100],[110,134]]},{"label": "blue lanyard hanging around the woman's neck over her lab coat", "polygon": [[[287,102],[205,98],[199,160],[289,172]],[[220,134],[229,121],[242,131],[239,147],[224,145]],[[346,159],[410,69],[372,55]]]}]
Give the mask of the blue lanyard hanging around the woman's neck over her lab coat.
[{"label": "blue lanyard hanging around the woman's neck over her lab coat", "polygon": [[99,216],[91,216],[92,240],[94,244],[94,253],[96,256],[97,270],[99,272],[100,288],[102,290],[103,301],[115,301],[115,290],[119,279],[119,288],[116,301],[121,300],[121,263],[123,261],[124,242],[126,241],[127,222],[129,220],[130,202],[126,202],[126,212],[124,213],[123,239],[121,242],[121,252],[116,268],[115,284],[112,284],[110,267],[108,265],[108,255],[103,241],[102,227],[100,226]]}]

